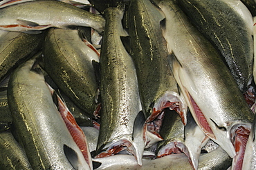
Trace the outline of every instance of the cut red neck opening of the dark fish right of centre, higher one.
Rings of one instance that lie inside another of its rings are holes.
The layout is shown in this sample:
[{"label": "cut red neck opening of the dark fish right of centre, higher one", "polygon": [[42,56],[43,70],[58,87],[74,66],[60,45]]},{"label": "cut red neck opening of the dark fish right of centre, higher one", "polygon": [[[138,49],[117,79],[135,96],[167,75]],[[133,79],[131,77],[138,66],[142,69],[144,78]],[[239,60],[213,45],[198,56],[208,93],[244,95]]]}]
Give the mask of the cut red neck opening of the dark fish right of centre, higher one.
[{"label": "cut red neck opening of the dark fish right of centre, higher one", "polygon": [[176,92],[165,92],[161,98],[158,98],[152,109],[152,114],[147,118],[145,123],[152,122],[165,108],[175,110],[181,116],[183,125],[187,124],[186,113],[188,105],[185,103],[185,98],[183,98],[182,94],[180,95]]}]

